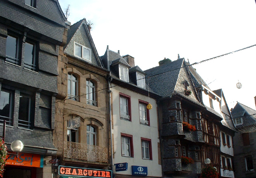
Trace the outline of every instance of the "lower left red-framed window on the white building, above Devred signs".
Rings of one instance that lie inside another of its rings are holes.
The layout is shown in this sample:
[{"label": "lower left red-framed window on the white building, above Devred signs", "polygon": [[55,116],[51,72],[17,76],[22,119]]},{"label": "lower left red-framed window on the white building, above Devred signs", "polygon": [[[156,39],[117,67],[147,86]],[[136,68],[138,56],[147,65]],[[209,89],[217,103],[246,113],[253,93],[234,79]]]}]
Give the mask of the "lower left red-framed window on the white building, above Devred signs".
[{"label": "lower left red-framed window on the white building, above Devred signs", "polygon": [[133,157],[133,136],[121,133],[122,156]]}]

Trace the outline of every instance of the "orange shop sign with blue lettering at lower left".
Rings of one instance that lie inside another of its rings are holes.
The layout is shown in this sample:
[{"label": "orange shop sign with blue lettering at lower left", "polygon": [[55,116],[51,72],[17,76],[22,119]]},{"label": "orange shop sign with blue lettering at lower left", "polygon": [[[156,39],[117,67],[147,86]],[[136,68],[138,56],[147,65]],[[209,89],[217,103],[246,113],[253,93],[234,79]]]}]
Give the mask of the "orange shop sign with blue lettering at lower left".
[{"label": "orange shop sign with blue lettering at lower left", "polygon": [[16,155],[7,155],[5,164],[43,168],[43,155],[19,152],[18,157]]}]

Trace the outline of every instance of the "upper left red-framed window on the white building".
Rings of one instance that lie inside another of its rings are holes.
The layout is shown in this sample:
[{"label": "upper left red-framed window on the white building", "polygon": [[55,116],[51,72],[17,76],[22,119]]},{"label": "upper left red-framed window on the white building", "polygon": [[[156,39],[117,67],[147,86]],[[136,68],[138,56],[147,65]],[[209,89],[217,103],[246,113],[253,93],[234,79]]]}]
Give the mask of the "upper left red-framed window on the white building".
[{"label": "upper left red-framed window on the white building", "polygon": [[130,96],[119,93],[120,119],[132,121]]}]

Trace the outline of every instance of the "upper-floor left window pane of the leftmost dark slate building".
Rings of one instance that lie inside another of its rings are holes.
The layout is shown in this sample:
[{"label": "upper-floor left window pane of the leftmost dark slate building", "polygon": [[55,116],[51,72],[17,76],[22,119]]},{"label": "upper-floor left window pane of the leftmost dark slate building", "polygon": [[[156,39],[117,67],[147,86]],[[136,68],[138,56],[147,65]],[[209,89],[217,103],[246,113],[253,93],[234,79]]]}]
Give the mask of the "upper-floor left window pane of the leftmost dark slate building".
[{"label": "upper-floor left window pane of the leftmost dark slate building", "polygon": [[17,45],[18,45],[18,38],[8,35],[6,39],[6,56],[9,56],[12,58],[18,58]]}]

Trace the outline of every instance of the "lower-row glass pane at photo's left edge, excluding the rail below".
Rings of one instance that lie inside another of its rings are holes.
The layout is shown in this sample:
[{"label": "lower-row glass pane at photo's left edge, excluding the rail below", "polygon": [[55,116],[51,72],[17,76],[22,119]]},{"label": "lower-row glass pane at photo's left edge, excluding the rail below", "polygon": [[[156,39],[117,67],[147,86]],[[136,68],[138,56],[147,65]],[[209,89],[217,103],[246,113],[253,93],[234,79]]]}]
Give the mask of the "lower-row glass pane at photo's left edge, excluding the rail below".
[{"label": "lower-row glass pane at photo's left edge, excluding the rail below", "polygon": [[0,116],[11,117],[11,93],[1,91],[0,97]]}]

